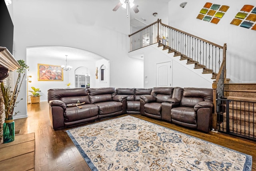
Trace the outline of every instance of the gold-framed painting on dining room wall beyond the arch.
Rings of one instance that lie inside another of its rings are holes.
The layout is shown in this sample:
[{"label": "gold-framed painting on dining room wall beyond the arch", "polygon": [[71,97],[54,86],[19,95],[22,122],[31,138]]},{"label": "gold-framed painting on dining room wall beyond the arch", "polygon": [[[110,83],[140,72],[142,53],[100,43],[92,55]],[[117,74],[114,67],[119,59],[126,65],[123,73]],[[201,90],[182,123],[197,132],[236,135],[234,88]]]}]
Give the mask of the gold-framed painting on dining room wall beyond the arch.
[{"label": "gold-framed painting on dining room wall beyond the arch", "polygon": [[37,64],[38,81],[63,81],[63,69],[60,66]]}]

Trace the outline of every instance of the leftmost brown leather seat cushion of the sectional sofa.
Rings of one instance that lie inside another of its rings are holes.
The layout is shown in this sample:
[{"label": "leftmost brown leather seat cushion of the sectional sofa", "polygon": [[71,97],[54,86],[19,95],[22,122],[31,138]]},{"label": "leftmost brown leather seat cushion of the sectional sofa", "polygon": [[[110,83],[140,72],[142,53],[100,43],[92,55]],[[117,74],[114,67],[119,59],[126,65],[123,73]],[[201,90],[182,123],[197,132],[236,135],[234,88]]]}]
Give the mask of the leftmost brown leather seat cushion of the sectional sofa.
[{"label": "leftmost brown leather seat cushion of the sectional sofa", "polygon": [[79,105],[79,107],[67,107],[66,112],[64,112],[64,122],[77,121],[98,115],[98,107],[96,105],[85,104]]}]

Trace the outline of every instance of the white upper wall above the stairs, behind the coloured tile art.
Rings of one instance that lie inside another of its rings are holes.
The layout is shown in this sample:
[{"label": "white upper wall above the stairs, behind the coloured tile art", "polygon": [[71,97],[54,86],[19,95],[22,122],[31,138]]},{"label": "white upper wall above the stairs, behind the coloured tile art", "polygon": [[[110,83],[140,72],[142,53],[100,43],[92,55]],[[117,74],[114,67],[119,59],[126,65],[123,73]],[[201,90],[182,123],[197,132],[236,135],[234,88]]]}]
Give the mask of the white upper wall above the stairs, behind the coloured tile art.
[{"label": "white upper wall above the stairs, behind the coloured tile art", "polygon": [[[230,24],[236,14],[245,4],[256,7],[255,0],[187,0],[184,8],[180,3],[184,0],[171,0],[169,2],[168,25],[188,32],[195,36],[209,40],[223,46],[227,44],[227,77],[231,82],[256,82],[256,31]],[[199,20],[200,10],[206,2],[230,6],[218,24]]]}]

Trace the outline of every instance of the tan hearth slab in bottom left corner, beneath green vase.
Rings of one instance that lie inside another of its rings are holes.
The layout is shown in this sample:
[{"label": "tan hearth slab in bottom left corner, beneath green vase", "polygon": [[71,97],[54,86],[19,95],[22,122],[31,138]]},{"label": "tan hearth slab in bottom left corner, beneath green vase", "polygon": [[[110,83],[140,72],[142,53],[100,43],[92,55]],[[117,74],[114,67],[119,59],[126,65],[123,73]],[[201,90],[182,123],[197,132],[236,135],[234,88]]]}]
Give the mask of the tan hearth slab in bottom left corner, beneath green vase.
[{"label": "tan hearth slab in bottom left corner, beneath green vase", "polygon": [[35,133],[15,136],[14,141],[0,144],[0,171],[33,171]]}]

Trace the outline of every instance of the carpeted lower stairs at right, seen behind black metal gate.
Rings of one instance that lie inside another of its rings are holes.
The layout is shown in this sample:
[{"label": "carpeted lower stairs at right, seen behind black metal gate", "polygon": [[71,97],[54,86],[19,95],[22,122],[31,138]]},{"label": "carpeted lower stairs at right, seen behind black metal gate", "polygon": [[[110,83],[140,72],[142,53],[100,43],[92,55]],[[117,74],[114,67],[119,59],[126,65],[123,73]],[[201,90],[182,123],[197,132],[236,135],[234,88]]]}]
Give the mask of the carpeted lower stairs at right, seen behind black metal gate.
[{"label": "carpeted lower stairs at right, seen behind black metal gate", "polygon": [[219,131],[256,139],[256,84],[224,84],[224,96]]}]

